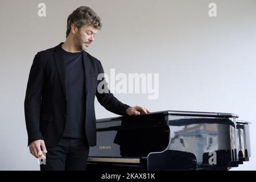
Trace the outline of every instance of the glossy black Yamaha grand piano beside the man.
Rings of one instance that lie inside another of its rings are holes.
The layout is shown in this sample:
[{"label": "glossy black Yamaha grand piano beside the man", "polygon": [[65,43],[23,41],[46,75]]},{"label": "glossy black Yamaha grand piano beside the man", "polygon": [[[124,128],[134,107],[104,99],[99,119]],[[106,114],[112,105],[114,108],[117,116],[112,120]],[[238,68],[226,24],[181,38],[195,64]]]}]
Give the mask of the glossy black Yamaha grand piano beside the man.
[{"label": "glossy black Yamaha grand piano beside the man", "polygon": [[249,122],[238,115],[159,111],[97,119],[88,170],[228,170],[250,158]]}]

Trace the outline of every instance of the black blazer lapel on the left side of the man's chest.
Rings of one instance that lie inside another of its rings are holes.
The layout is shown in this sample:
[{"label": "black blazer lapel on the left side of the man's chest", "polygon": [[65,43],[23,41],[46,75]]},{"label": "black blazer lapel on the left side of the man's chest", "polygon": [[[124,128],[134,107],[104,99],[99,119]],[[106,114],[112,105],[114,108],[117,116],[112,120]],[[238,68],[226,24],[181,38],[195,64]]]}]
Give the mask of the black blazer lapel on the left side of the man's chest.
[{"label": "black blazer lapel on the left side of the man's chest", "polygon": [[59,77],[60,77],[60,82],[61,82],[61,86],[64,92],[64,96],[66,98],[66,100],[68,100],[67,98],[67,84],[66,84],[66,79],[65,79],[65,65],[64,65],[64,58],[63,55],[61,53],[61,45],[63,43],[60,43],[58,46],[56,46],[54,48],[54,58],[55,58],[55,63],[56,63],[56,67],[57,67],[57,71],[59,73]]}]

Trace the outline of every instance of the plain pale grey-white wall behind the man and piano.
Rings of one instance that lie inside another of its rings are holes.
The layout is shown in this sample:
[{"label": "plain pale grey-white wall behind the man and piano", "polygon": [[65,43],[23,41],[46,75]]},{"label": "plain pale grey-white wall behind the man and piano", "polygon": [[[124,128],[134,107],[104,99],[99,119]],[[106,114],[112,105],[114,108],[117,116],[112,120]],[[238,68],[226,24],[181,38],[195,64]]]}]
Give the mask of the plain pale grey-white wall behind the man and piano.
[{"label": "plain pale grey-white wall behind the man and piano", "polygon": [[[46,3],[46,17],[38,4]],[[208,5],[217,5],[217,17]],[[256,169],[256,1],[255,0],[90,0],[0,2],[0,170],[38,170],[28,152],[24,96],[36,52],[65,40],[66,21],[79,6],[101,17],[103,28],[88,52],[105,72],[159,73],[159,98],[115,94],[151,111],[235,113],[250,121],[250,162]],[[96,101],[96,117],[116,116]]]}]

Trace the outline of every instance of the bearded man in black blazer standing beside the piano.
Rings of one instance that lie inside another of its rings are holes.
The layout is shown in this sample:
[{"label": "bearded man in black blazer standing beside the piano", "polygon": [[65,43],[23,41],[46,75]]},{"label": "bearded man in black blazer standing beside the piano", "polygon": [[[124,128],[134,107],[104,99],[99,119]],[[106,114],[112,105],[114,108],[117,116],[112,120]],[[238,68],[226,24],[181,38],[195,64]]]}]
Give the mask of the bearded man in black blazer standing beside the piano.
[{"label": "bearded man in black blazer standing beside the piano", "polygon": [[98,15],[81,6],[68,17],[65,42],[38,52],[34,58],[24,111],[30,153],[46,159],[41,170],[86,169],[89,146],[96,145],[95,96],[115,114],[150,112],[123,104],[107,86],[102,89],[108,92],[99,92],[98,84],[105,78],[98,80],[97,76],[104,70],[100,61],[85,50],[101,27]]}]

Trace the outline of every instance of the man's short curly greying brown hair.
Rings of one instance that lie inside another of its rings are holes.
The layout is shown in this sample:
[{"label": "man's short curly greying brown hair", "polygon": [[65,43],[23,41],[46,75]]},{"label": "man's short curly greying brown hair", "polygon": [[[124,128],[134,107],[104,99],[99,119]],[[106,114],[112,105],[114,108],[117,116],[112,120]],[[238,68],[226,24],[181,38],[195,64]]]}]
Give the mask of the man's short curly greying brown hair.
[{"label": "man's short curly greying brown hair", "polygon": [[71,24],[74,23],[77,28],[84,25],[91,25],[98,30],[101,29],[102,23],[100,17],[87,6],[80,6],[68,16],[66,38],[71,31]]}]

